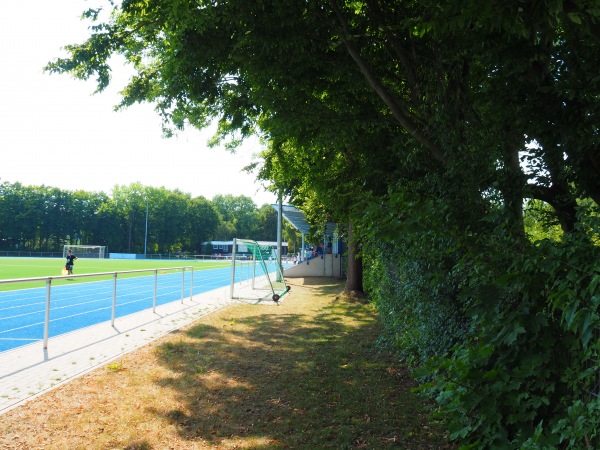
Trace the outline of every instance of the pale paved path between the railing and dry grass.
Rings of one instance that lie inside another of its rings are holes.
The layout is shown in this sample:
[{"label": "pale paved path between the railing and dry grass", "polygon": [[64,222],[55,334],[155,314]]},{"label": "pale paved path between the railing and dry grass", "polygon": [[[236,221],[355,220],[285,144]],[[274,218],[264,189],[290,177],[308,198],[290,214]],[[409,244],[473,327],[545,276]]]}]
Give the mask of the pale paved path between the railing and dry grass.
[{"label": "pale paved path between the railing and dry grass", "polygon": [[0,414],[230,303],[230,288],[0,353]]}]

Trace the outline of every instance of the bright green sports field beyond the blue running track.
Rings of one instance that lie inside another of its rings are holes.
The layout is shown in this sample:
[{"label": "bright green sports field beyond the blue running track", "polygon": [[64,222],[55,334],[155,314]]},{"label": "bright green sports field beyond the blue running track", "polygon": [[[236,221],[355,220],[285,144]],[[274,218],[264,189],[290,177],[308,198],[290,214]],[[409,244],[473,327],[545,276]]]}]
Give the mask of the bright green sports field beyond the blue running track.
[{"label": "bright green sports field beyond the blue running track", "polygon": [[[64,258],[0,258],[0,280],[60,276]],[[230,261],[157,260],[157,259],[97,259],[79,258],[73,267],[74,275],[119,272],[126,270],[189,267],[194,271],[230,267]],[[147,275],[147,274],[146,274]],[[89,278],[87,279],[89,280]],[[0,284],[0,290],[9,285]],[[23,286],[24,287],[24,286]],[[11,287],[14,289],[14,286]]]}]

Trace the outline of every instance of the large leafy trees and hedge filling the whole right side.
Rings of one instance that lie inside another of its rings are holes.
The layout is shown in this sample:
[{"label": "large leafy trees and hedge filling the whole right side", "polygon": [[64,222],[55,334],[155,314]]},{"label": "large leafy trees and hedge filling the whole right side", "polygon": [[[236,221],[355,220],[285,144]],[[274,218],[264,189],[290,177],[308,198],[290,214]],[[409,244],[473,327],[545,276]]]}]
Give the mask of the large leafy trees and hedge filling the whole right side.
[{"label": "large leafy trees and hedge filling the whole right side", "polygon": [[[111,5],[112,2],[111,2]],[[464,448],[600,448],[598,0],[128,0],[50,72],[347,224],[347,289]],[[401,413],[401,412],[399,412]]]}]

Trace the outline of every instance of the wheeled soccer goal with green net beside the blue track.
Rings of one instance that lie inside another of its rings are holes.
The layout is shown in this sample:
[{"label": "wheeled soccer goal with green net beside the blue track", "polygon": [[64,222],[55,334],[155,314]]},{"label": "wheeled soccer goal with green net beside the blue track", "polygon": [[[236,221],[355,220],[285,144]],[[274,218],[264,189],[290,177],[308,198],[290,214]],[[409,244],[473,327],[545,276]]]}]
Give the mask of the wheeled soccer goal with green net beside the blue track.
[{"label": "wheeled soccer goal with green net beside the blue track", "polygon": [[231,263],[231,298],[279,302],[290,290],[270,245],[234,239]]}]

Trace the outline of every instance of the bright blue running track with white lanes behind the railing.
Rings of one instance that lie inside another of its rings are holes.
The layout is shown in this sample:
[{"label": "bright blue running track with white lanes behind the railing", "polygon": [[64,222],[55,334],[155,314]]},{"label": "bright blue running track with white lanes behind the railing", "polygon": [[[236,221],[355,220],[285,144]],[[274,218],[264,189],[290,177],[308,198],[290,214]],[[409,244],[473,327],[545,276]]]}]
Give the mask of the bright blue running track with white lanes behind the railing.
[{"label": "bright blue running track with white lanes behind the railing", "polygon": [[[194,271],[193,294],[228,286],[231,269]],[[190,296],[191,273],[184,278],[184,297]],[[156,305],[181,301],[181,272],[159,274]],[[112,278],[104,281],[79,282],[52,286],[50,297],[49,337],[111,320],[113,304]],[[154,275],[117,280],[115,317],[123,317],[152,308]],[[46,287],[0,292],[0,352],[44,337]]]}]

